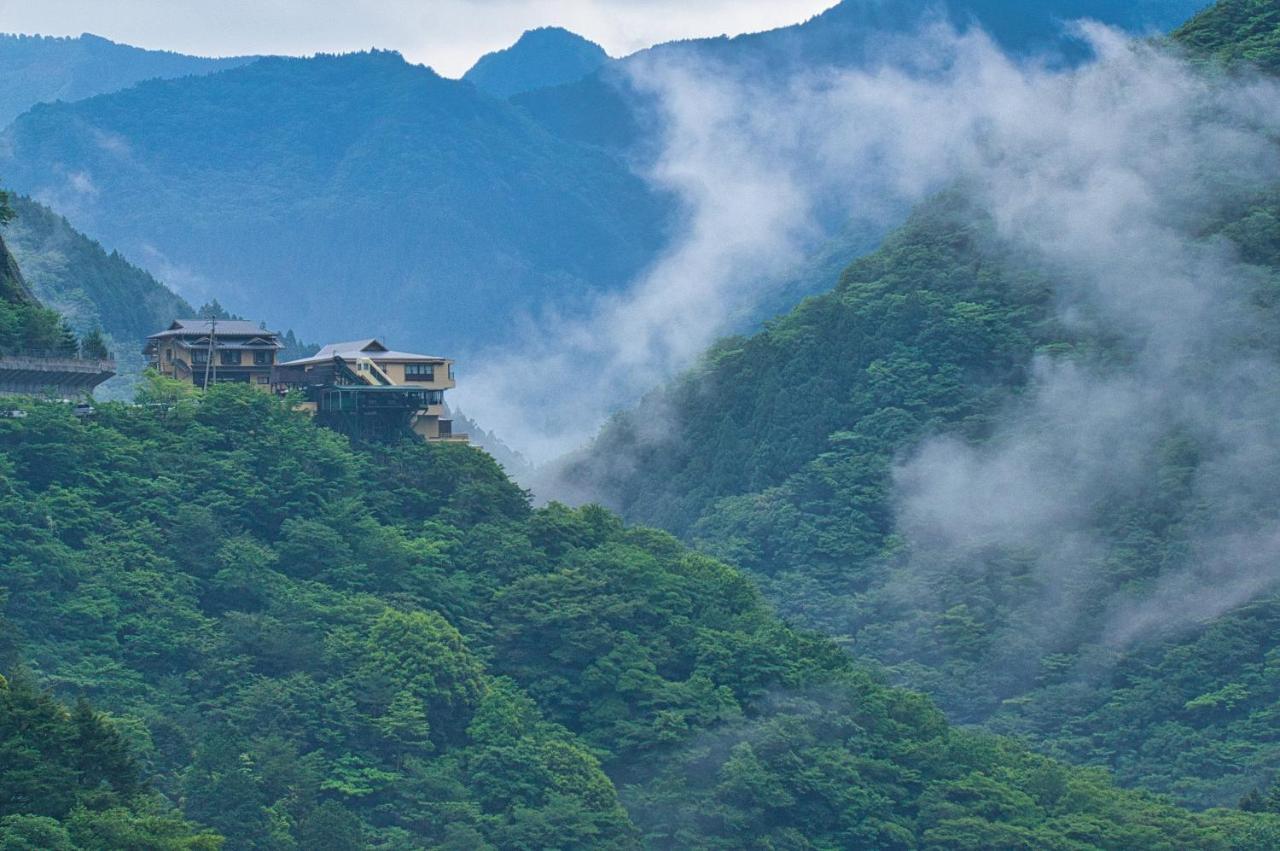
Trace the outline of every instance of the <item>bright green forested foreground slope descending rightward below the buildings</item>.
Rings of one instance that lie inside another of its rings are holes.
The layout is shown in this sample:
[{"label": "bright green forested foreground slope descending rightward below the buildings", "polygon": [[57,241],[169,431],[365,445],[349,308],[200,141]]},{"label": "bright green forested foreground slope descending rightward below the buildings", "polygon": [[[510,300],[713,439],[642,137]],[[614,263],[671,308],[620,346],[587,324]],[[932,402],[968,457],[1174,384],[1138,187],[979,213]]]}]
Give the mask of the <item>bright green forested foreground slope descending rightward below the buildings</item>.
[{"label": "bright green forested foreground slope descending rightward below the buildings", "polygon": [[1272,837],[956,731],[733,568],[534,511],[474,449],[353,450],[232,386],[28,412],[0,421],[0,645],[109,710],[228,847]]}]

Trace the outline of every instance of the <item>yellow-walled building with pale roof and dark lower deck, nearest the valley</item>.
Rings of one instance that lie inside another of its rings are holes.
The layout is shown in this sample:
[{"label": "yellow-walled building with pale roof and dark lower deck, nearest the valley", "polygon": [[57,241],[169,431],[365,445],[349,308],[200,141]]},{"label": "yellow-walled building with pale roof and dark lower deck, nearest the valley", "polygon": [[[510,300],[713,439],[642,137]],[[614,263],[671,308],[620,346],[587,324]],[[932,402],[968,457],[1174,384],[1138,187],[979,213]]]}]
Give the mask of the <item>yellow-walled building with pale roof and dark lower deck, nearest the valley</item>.
[{"label": "yellow-walled building with pale roof and dark lower deck, nearest the valley", "polygon": [[307,410],[329,427],[357,439],[412,429],[428,440],[465,441],[447,418],[444,392],[453,389],[453,361],[396,352],[376,339],[332,343],[311,357],[280,363],[276,392],[301,392]]}]

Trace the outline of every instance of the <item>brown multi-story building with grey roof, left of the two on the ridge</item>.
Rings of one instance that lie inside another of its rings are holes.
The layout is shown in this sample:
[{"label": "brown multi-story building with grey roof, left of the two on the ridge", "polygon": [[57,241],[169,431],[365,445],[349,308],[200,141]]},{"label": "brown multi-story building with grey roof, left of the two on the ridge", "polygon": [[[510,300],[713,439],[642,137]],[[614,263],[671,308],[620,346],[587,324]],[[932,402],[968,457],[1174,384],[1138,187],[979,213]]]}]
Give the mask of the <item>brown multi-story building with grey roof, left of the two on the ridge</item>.
[{"label": "brown multi-story building with grey roof, left of the two on the ridge", "polygon": [[147,338],[151,369],[196,386],[219,381],[271,389],[271,369],[284,346],[275,331],[230,319],[179,319]]}]

